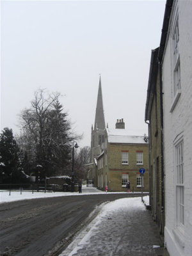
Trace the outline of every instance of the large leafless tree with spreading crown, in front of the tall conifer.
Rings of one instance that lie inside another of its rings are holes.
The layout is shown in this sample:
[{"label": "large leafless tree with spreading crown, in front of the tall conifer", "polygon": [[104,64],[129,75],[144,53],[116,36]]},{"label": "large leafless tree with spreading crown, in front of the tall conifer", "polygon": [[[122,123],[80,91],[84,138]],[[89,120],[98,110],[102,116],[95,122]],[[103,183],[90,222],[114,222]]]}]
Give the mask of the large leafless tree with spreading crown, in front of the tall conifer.
[{"label": "large leafless tree with spreading crown, in front of the tall conifer", "polygon": [[23,150],[33,159],[34,167],[42,166],[48,175],[61,172],[70,159],[70,143],[78,138],[71,132],[67,113],[60,104],[60,93],[35,92],[31,108],[21,113]]}]

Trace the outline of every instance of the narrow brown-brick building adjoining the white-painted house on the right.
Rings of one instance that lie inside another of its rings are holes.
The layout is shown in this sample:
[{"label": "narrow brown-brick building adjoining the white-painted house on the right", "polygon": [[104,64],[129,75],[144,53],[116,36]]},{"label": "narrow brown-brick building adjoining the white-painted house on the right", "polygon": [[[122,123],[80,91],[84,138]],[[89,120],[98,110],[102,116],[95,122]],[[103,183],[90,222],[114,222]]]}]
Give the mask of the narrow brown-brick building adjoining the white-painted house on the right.
[{"label": "narrow brown-brick building adjoining the white-painted house on the right", "polygon": [[159,231],[164,234],[164,166],[162,86],[159,81],[159,47],[152,50],[145,108],[149,143],[150,209]]}]

